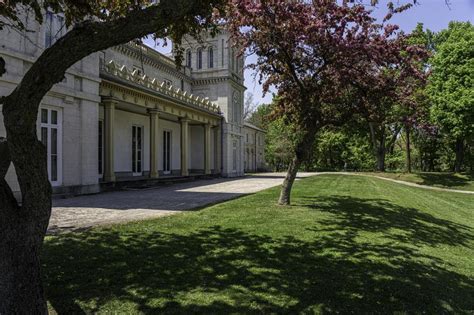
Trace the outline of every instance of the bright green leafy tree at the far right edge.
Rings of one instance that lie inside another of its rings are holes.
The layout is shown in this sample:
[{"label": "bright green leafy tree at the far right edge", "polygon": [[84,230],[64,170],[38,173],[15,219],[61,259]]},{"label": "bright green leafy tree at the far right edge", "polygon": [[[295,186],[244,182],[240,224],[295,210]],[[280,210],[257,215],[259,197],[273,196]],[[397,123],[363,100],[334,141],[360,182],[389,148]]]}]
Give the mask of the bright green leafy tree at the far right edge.
[{"label": "bright green leafy tree at the far right edge", "polygon": [[431,116],[455,142],[454,171],[460,172],[466,141],[474,134],[474,26],[451,22],[435,37],[427,94]]}]

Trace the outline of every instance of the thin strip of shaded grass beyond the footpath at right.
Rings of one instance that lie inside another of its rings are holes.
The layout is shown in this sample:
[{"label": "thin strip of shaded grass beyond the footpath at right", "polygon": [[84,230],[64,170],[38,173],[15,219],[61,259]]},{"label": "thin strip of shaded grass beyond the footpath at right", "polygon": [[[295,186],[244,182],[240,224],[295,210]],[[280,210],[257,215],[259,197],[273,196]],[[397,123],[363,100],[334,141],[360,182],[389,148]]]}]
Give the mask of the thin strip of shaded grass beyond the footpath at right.
[{"label": "thin strip of shaded grass beyond the footpath at right", "polygon": [[440,173],[440,172],[419,172],[419,173],[369,173],[375,176],[403,180],[410,183],[436,186],[442,188],[474,191],[474,174],[470,173]]}]

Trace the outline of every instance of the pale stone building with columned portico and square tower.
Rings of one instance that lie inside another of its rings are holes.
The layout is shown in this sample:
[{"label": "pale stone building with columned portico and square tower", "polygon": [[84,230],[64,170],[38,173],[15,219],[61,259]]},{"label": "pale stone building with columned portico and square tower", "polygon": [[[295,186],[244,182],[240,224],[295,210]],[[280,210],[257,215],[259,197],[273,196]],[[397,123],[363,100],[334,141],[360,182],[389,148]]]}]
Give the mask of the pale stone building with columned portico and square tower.
[{"label": "pale stone building with columned portico and square tower", "polygon": [[[0,95],[9,94],[63,35],[61,16],[47,13],[45,21],[25,21],[35,32],[0,31],[7,70]],[[181,70],[169,57],[130,43],[83,59],[52,88],[40,106],[37,133],[47,146],[55,193],[95,193],[165,177],[244,175],[246,130],[252,137],[261,133],[242,119],[244,61],[225,32],[204,43],[185,42]],[[6,134],[2,121],[0,114],[0,137]],[[257,152],[262,163],[263,151]],[[18,191],[13,167],[7,180]]]}]

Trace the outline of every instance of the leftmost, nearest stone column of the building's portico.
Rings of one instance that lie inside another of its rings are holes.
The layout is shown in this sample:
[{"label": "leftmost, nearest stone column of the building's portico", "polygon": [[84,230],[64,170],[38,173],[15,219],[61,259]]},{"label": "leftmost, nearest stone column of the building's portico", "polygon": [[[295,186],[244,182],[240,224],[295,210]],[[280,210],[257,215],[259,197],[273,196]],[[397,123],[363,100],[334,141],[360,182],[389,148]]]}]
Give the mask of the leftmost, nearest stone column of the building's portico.
[{"label": "leftmost, nearest stone column of the building's portico", "polygon": [[114,170],[114,121],[115,121],[115,106],[117,100],[113,98],[102,98],[102,104],[104,105],[104,181],[114,182],[115,181],[115,170]]}]

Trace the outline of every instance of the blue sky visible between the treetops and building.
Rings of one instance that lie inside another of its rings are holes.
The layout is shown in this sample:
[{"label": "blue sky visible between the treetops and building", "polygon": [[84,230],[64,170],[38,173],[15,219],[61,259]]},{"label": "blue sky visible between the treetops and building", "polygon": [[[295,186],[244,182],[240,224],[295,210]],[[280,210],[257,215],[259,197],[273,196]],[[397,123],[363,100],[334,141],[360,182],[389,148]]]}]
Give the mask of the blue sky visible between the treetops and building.
[{"label": "blue sky visible between the treetops and building", "polygon": [[[370,3],[370,0],[363,0],[364,3]],[[386,13],[386,4],[389,0],[379,0],[379,4],[374,9],[374,16],[382,19]],[[395,4],[406,3],[408,0],[392,0]],[[450,21],[471,21],[474,22],[474,0],[448,0],[449,6],[445,0],[418,0],[419,4],[410,10],[395,15],[391,23],[398,24],[405,32],[413,30],[417,23],[423,23],[425,28],[432,31],[440,31],[448,27]],[[154,43],[146,42],[154,47]],[[154,47],[161,52],[168,53],[169,48]],[[249,56],[246,64],[252,63],[255,56]],[[254,102],[259,104],[267,104],[272,100],[271,93],[263,96],[262,87],[258,84],[258,78],[255,78],[255,72],[245,70],[245,86],[247,93],[252,93]]]}]

